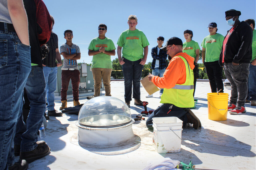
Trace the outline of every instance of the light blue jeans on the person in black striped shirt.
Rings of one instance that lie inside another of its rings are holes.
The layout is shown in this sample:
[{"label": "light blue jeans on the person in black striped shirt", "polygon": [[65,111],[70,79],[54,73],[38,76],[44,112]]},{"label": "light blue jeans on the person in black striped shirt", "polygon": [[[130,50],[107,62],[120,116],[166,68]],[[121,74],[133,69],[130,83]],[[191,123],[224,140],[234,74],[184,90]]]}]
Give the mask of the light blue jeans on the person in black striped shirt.
[{"label": "light blue jeans on the person in black striped shirt", "polygon": [[44,76],[45,76],[45,92],[48,105],[46,106],[47,110],[55,110],[54,106],[54,92],[57,88],[57,67],[43,67]]}]

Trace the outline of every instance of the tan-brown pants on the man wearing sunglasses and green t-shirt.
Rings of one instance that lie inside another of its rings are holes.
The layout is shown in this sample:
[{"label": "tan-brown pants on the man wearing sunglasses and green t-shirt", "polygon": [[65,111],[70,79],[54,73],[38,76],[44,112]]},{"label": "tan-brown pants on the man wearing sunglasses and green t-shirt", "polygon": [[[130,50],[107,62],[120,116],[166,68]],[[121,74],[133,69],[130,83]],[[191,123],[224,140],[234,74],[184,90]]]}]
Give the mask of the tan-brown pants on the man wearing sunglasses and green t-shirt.
[{"label": "tan-brown pants on the man wearing sunglasses and green t-shirt", "polygon": [[100,84],[101,77],[105,88],[105,96],[111,96],[110,94],[110,75],[112,69],[105,68],[92,68],[92,75],[94,80],[94,97],[100,96]]}]

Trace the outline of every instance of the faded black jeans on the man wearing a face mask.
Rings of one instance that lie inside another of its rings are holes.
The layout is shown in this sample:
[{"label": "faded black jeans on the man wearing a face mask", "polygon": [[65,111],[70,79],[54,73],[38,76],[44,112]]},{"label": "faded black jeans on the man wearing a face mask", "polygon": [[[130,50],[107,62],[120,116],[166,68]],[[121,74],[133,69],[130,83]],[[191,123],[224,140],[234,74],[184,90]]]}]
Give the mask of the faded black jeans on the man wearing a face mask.
[{"label": "faded black jeans on the man wearing a face mask", "polygon": [[224,63],[224,73],[231,84],[230,104],[237,107],[244,106],[248,91],[248,75],[250,63],[239,63],[232,66],[232,63]]}]

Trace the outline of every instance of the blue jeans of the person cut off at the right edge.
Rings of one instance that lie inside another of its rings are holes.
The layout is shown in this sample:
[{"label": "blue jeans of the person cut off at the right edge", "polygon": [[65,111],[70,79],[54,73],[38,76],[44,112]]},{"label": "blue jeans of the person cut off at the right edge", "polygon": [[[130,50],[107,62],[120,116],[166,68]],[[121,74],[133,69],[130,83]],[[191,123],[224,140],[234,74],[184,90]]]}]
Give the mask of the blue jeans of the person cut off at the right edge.
[{"label": "blue jeans of the person cut off at the right edge", "polygon": [[256,66],[250,64],[248,77],[248,95],[247,100],[256,100]]}]

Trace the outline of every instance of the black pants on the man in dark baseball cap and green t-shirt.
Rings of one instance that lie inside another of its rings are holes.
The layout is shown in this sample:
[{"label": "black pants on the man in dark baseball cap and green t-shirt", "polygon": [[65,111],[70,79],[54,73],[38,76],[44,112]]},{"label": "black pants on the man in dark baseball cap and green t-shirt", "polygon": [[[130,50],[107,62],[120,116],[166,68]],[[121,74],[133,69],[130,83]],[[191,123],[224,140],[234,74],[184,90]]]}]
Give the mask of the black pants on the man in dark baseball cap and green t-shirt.
[{"label": "black pants on the man in dark baseball cap and green t-shirt", "polygon": [[210,81],[211,92],[216,93],[220,89],[220,93],[223,93],[223,81],[222,81],[222,70],[223,68],[220,67],[219,61],[213,62],[204,62],[206,74]]}]

